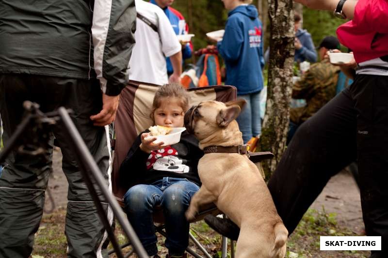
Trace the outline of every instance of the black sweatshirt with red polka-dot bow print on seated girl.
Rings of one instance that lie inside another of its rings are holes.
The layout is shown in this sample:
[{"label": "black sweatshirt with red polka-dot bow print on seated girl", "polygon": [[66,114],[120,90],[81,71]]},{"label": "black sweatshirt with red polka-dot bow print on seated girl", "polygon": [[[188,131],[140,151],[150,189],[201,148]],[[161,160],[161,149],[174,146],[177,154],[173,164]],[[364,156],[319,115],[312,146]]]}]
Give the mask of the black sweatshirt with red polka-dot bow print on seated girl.
[{"label": "black sweatshirt with red polka-dot bow print on seated girl", "polygon": [[129,188],[134,184],[150,184],[163,177],[186,178],[197,185],[201,184],[198,161],[203,151],[198,148],[198,140],[193,135],[184,131],[180,141],[171,145],[171,148],[166,147],[149,154],[140,149],[140,136],[145,132],[136,138],[121,164],[119,176],[123,186]]}]

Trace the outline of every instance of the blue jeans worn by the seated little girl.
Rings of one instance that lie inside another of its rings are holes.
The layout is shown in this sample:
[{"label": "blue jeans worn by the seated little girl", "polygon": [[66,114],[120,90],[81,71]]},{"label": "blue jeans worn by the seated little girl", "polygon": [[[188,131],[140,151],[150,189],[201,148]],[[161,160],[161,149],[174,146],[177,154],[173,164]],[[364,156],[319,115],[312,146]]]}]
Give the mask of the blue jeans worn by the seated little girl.
[{"label": "blue jeans worn by the seated little girl", "polygon": [[124,195],[125,212],[149,256],[158,252],[152,213],[162,206],[167,238],[165,245],[172,256],[184,254],[189,245],[189,222],[185,212],[199,186],[187,179],[164,177],[152,184],[138,184]]}]

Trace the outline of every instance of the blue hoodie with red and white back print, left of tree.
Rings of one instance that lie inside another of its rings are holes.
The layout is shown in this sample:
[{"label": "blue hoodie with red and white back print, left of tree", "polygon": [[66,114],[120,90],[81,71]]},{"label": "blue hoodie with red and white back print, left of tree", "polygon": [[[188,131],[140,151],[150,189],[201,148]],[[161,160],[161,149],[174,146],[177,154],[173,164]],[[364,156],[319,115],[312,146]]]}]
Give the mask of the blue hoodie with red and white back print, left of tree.
[{"label": "blue hoodie with red and white back print, left of tree", "polygon": [[238,95],[263,89],[262,24],[253,5],[240,5],[228,13],[225,34],[217,48],[226,65],[226,85]]}]

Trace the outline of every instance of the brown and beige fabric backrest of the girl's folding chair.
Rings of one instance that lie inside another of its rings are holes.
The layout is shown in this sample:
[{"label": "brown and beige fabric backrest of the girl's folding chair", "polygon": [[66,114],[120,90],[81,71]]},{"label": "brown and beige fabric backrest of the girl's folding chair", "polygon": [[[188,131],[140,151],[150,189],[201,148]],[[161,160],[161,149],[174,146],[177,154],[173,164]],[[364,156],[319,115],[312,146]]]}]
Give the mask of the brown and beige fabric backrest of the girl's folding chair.
[{"label": "brown and beige fabric backrest of the girl's folding chair", "polygon": [[[118,200],[122,200],[128,189],[123,189],[118,183],[118,171],[135,138],[152,125],[149,112],[159,85],[129,81],[120,93],[120,104],[114,121],[115,145],[112,170],[112,190]],[[234,86],[215,85],[188,90],[190,106],[203,100],[227,102],[235,100],[237,89]]]}]

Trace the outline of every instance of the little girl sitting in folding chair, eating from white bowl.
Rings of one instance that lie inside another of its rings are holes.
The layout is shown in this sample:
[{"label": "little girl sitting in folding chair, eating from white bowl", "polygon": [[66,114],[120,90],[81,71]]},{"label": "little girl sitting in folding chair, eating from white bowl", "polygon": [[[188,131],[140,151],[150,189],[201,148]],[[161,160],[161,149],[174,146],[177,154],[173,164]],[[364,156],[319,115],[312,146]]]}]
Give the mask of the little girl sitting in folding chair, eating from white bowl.
[{"label": "little girl sitting in folding chair, eating from white bowl", "polygon": [[[189,107],[187,92],[179,84],[165,84],[156,92],[150,113],[155,125],[183,127]],[[151,137],[151,138],[150,138]],[[168,248],[167,258],[186,257],[189,222],[185,211],[199,190],[198,160],[203,152],[197,139],[184,131],[177,144],[153,143],[149,130],[134,141],[120,167],[122,182],[133,185],[124,196],[125,211],[149,256],[159,257],[152,213],[162,206]]]}]

